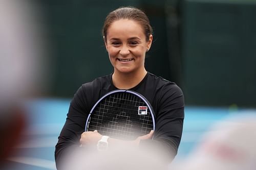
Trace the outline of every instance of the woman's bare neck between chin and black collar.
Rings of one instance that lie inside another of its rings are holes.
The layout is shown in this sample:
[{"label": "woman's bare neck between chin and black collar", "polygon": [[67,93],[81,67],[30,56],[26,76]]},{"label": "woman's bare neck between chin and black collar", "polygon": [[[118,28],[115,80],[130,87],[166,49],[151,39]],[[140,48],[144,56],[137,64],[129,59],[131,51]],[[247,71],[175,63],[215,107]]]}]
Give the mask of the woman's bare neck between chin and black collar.
[{"label": "woman's bare neck between chin and black collar", "polygon": [[131,89],[137,86],[146,76],[147,71],[143,69],[139,74],[120,73],[114,71],[112,76],[113,84],[119,89]]}]

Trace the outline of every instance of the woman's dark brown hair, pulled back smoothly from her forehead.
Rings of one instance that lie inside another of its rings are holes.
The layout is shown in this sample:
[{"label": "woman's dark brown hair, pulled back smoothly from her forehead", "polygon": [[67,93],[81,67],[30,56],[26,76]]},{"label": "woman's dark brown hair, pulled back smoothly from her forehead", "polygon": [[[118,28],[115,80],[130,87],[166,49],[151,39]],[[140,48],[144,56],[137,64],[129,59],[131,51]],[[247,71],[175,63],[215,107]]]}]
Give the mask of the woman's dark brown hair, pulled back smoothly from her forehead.
[{"label": "woman's dark brown hair, pulled back smoothly from her forehead", "polygon": [[104,25],[102,28],[102,35],[104,36],[104,41],[106,41],[106,34],[110,25],[120,19],[131,19],[137,21],[143,28],[146,41],[150,39],[150,35],[153,34],[153,29],[150,25],[150,20],[147,18],[146,14],[135,8],[135,7],[120,7],[106,16]]}]

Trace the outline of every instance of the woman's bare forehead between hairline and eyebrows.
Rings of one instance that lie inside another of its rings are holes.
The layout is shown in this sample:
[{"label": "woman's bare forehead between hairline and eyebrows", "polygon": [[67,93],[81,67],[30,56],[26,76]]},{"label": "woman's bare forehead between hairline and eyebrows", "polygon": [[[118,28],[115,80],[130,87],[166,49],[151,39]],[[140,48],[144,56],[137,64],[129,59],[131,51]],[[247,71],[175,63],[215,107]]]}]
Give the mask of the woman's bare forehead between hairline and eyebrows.
[{"label": "woman's bare forehead between hairline and eyebrows", "polygon": [[145,38],[144,30],[139,22],[131,19],[120,19],[111,23],[107,30],[107,37],[139,37]]}]

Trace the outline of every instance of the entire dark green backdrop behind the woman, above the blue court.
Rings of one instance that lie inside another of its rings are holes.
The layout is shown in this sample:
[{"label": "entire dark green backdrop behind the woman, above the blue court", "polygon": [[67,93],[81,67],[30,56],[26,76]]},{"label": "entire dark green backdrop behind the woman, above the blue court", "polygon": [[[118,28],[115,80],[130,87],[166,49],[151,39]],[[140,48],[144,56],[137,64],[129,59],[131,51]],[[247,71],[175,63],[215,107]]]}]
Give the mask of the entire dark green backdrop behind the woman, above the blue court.
[{"label": "entire dark green backdrop behind the woman, above the blue court", "polygon": [[113,71],[101,27],[120,6],[145,11],[154,29],[146,69],[176,82],[186,105],[256,106],[253,1],[38,1],[50,42],[48,96],[71,98]]}]

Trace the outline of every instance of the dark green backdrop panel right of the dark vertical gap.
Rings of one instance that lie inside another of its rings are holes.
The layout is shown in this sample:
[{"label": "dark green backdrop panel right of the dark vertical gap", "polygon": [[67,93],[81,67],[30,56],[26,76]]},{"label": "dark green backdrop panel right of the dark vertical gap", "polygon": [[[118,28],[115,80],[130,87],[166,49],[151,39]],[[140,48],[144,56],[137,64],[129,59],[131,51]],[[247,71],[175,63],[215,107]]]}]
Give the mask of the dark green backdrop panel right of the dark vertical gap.
[{"label": "dark green backdrop panel right of the dark vertical gap", "polygon": [[256,2],[213,2],[183,6],[186,101],[256,106]]}]

